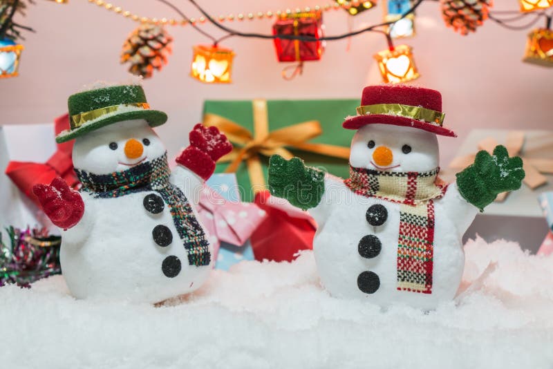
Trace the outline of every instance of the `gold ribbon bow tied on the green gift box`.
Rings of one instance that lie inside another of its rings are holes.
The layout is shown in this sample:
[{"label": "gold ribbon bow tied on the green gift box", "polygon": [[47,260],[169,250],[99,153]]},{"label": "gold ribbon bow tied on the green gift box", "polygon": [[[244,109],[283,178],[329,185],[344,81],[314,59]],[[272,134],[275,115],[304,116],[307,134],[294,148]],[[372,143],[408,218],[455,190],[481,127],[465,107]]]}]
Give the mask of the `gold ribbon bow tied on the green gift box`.
[{"label": "gold ribbon bow tied on the green gift box", "polygon": [[232,173],[245,160],[254,193],[265,189],[265,179],[259,155],[278,154],[285,159],[291,159],[294,155],[284,147],[288,146],[335,158],[349,158],[350,149],[348,147],[307,142],[322,133],[321,124],[317,120],[292,124],[269,132],[267,102],[265,100],[253,100],[252,104],[254,111],[253,133],[240,124],[232,122],[232,120],[212,113],[205,113],[203,124],[205,126],[216,126],[235,145],[231,153],[223,156],[218,161],[230,162],[225,171]]}]

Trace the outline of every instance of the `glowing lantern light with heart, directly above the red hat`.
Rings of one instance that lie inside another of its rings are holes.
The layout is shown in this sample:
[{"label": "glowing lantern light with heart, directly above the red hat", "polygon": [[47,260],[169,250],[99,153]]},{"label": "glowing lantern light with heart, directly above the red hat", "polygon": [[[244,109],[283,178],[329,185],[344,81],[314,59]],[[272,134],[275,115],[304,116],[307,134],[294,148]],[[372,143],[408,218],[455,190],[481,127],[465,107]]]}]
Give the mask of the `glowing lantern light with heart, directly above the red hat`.
[{"label": "glowing lantern light with heart, directly above the red hat", "polygon": [[411,46],[391,46],[375,54],[384,83],[409,82],[420,77]]}]

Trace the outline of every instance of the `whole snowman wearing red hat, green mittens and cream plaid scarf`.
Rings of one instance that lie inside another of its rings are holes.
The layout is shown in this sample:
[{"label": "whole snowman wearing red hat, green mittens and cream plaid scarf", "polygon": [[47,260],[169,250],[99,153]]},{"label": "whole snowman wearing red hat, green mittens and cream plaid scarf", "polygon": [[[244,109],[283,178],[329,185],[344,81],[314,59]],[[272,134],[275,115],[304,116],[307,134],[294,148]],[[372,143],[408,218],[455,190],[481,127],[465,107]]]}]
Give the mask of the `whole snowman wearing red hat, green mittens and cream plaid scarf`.
[{"label": "whole snowman wearing red hat, green mittens and cream plaid scarf", "polygon": [[463,234],[498,191],[520,187],[524,171],[520,158],[498,147],[442,186],[436,136],[456,137],[443,121],[438,91],[368,86],[357,115],[343,123],[357,130],[350,178],[326,175],[299,158],[271,158],[272,194],[317,221],[313,250],[330,294],[424,310],[455,296],[465,265]]}]

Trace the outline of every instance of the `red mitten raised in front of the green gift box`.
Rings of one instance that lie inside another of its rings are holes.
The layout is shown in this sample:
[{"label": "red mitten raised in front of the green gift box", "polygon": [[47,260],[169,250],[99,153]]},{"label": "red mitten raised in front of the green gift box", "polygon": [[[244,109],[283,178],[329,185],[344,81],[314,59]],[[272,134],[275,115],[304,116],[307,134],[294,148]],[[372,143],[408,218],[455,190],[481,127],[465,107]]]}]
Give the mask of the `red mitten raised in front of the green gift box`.
[{"label": "red mitten raised in front of the green gift box", "polygon": [[232,144],[216,127],[200,123],[190,131],[189,139],[190,146],[178,155],[176,162],[207,180],[215,171],[215,162],[232,151]]}]

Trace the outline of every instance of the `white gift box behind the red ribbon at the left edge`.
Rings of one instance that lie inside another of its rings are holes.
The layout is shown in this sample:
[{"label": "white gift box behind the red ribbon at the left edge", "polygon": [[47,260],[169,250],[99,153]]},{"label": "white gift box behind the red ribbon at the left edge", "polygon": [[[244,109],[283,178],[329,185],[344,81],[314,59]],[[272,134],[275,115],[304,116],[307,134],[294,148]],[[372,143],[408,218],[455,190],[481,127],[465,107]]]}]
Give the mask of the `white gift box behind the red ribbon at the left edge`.
[{"label": "white gift box behind the red ribbon at the left edge", "polygon": [[53,123],[0,126],[0,231],[12,225],[19,228],[47,227],[53,233],[59,233],[5,173],[11,160],[44,163],[56,149]]}]

